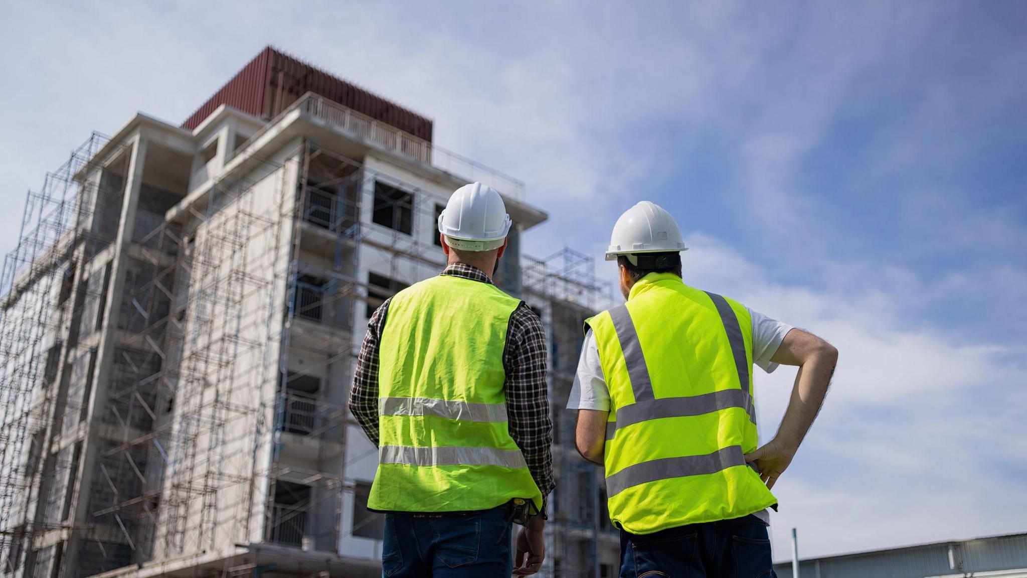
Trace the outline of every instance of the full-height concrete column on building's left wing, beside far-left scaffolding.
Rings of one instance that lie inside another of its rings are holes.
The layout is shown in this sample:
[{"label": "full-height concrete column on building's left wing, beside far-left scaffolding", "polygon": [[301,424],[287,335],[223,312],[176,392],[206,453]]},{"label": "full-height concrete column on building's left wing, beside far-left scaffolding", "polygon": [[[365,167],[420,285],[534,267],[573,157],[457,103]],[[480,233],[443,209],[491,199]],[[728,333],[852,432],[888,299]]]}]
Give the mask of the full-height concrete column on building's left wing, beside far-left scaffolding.
[{"label": "full-height concrete column on building's left wing, beside far-left scaffolding", "polygon": [[[76,496],[72,498],[71,514],[69,519],[75,526],[82,527],[88,520],[89,512],[89,491],[93,481],[107,483],[106,480],[94,479],[93,473],[97,464],[100,462],[100,454],[97,443],[97,425],[107,411],[107,392],[111,381],[111,366],[114,358],[116,327],[118,322],[119,305],[121,303],[122,292],[124,291],[125,280],[125,248],[131,243],[132,229],[136,224],[136,208],[139,205],[139,192],[143,185],[143,167],[146,159],[147,141],[142,135],[137,135],[132,143],[131,156],[128,160],[127,179],[125,181],[124,196],[121,202],[121,218],[118,227],[117,239],[114,242],[114,260],[111,265],[111,276],[108,280],[107,299],[104,311],[106,319],[100,328],[100,346],[97,350],[97,364],[93,370],[92,391],[89,394],[88,410],[86,413],[86,435],[82,443],[82,455],[79,461],[78,486],[75,490]],[[67,556],[64,561],[63,578],[73,578],[75,568],[83,541],[81,536],[73,535],[68,542],[66,550]]]}]

